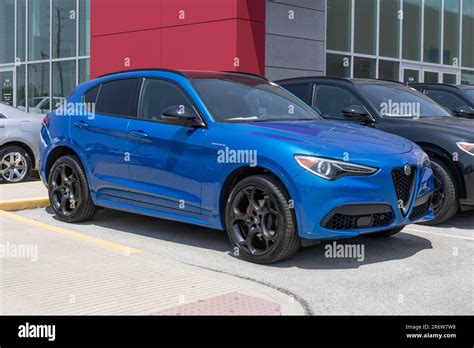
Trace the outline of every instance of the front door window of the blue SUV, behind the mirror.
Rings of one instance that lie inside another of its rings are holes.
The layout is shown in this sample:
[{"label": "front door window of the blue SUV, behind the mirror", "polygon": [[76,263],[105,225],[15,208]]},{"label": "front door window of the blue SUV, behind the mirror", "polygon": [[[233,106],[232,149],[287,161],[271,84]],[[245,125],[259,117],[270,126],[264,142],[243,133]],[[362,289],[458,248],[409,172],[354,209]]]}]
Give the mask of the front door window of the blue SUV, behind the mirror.
[{"label": "front door window of the blue SUV, behind the mirror", "polygon": [[162,117],[163,111],[170,107],[176,107],[182,112],[195,113],[189,99],[175,84],[164,80],[145,80],[139,117],[152,121],[170,122],[169,119]]}]

